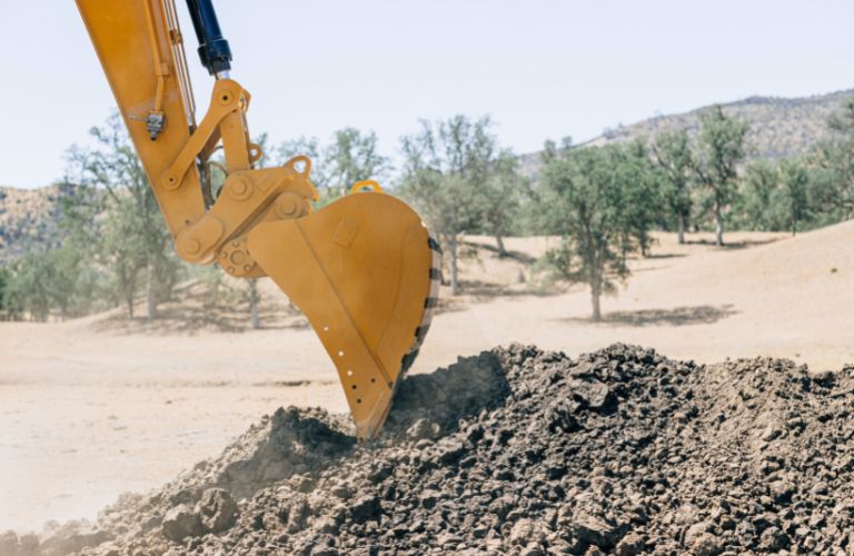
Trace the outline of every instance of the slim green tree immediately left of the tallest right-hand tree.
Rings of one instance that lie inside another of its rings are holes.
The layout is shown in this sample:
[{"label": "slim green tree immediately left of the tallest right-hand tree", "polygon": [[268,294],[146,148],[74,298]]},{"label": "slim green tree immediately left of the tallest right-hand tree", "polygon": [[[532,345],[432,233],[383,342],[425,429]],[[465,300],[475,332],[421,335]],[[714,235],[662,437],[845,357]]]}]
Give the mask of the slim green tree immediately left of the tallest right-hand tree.
[{"label": "slim green tree immediately left of the tallest right-hand tree", "polygon": [[662,195],[667,209],[676,219],[676,234],[679,245],[685,244],[685,227],[691,219],[691,185],[693,180],[694,156],[688,142],[688,132],[665,131],[653,143],[653,158],[664,178]]}]

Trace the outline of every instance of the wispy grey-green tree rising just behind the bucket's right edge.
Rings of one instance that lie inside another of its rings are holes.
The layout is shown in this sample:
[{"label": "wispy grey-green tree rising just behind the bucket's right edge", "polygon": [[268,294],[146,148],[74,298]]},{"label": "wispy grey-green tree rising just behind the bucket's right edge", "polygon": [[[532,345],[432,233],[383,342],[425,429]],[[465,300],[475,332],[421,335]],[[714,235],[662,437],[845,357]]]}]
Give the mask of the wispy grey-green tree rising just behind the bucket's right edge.
[{"label": "wispy grey-green tree rising just behind the bucket's right edge", "polygon": [[[499,163],[500,153],[491,122],[455,116],[444,121],[421,122],[420,131],[404,137],[404,171],[400,195],[409,199],[436,232],[450,257],[451,295],[459,292],[459,235],[481,224],[484,197],[479,191]],[[505,162],[506,163],[506,162]],[[497,181],[504,187],[505,182]],[[499,187],[496,185],[496,188]],[[499,226],[502,218],[495,217]]]}]

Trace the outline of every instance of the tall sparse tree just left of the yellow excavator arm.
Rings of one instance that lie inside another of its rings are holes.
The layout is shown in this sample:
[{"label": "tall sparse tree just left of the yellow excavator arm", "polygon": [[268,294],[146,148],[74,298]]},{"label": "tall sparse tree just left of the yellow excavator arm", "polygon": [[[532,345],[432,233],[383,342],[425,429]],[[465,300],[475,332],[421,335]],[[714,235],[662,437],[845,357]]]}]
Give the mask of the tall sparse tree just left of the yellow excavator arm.
[{"label": "tall sparse tree just left of the yellow excavator arm", "polygon": [[[178,280],[180,265],[171,250],[171,238],[149,187],[142,165],[118,113],[102,127],[90,130],[96,147],[72,149],[69,179],[78,189],[102,190],[106,219],[102,260],[112,269],[119,297],[132,317],[132,297],[139,267],[145,270],[148,318],[167,299]],[[132,288],[132,289],[131,289]]]}]

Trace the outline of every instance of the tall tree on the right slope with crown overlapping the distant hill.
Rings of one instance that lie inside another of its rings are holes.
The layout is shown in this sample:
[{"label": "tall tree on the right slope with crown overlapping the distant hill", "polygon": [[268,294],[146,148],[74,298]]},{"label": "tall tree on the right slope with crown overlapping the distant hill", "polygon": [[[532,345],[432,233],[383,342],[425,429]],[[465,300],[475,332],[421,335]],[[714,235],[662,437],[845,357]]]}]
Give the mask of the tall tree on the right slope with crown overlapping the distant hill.
[{"label": "tall tree on the right slope with crown overlapping the distant hill", "polygon": [[724,210],[737,197],[737,165],[744,159],[747,122],[731,118],[716,106],[699,117],[699,149],[694,163],[697,181],[712,195],[715,242],[724,245]]}]

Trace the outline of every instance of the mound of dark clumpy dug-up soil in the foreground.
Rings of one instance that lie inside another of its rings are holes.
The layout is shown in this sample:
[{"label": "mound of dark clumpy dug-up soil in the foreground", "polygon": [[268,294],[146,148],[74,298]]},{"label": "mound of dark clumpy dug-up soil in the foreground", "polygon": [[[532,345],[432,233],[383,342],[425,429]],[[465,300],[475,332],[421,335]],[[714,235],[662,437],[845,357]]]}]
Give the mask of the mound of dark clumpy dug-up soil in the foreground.
[{"label": "mound of dark clumpy dug-up soil in the foreground", "polygon": [[854,554],[852,403],[854,367],[498,348],[407,378],[374,444],[279,409],[0,555]]}]

